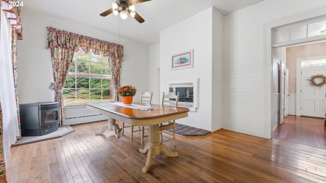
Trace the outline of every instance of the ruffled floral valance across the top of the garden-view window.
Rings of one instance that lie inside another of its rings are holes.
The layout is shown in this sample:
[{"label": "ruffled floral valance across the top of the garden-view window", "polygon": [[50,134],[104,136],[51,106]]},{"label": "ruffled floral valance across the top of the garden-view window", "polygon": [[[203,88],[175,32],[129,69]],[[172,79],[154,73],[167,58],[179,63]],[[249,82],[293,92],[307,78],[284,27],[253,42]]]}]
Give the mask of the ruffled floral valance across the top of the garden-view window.
[{"label": "ruffled floral valance across the top of the garden-view window", "polygon": [[113,59],[124,59],[122,45],[47,27],[46,48],[57,46],[63,49],[73,49],[74,51],[82,48],[86,53],[92,49],[94,54],[103,53],[104,56]]}]

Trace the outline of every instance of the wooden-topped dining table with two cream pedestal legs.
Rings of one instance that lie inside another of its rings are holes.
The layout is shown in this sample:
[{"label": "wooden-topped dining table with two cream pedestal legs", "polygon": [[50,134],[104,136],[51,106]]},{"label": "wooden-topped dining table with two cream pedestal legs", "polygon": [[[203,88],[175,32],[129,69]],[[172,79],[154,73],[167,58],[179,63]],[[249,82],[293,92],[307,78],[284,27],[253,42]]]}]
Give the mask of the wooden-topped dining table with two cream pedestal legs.
[{"label": "wooden-topped dining table with two cream pedestal legs", "polygon": [[153,156],[159,155],[161,151],[168,157],[178,157],[177,152],[171,152],[167,145],[160,143],[159,124],[187,117],[188,108],[140,102],[132,102],[131,105],[124,105],[121,102],[92,102],[87,104],[87,108],[108,116],[108,123],[100,131],[95,132],[95,135],[109,130],[119,138],[118,131],[121,128],[116,124],[116,120],[148,128],[148,142],[139,149],[141,153],[147,153],[142,173],[148,171]]}]

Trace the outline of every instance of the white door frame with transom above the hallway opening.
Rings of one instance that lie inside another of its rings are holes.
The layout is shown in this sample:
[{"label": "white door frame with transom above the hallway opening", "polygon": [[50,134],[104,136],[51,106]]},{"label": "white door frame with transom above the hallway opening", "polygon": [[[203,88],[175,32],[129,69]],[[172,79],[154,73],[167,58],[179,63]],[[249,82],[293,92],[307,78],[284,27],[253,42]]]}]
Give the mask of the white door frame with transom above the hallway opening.
[{"label": "white door frame with transom above the hallway opening", "polygon": [[[271,22],[268,24],[265,24],[265,61],[266,61],[266,67],[265,67],[265,137],[273,138],[273,130],[275,124],[275,121],[279,120],[279,118],[276,118],[274,115],[274,109],[276,104],[274,103],[274,48],[282,48],[282,47],[290,47],[293,45],[301,45],[301,44],[308,44],[308,43],[315,43],[320,41],[326,40],[326,35],[318,34],[316,31],[314,33],[310,32],[311,29],[309,26],[311,23],[324,21],[326,20],[326,15],[324,14],[324,11],[322,9],[316,10],[313,12],[310,12],[309,14],[305,14],[300,17],[291,17],[288,19],[282,19],[280,21]],[[298,31],[295,27],[300,25],[300,27],[306,27],[306,28],[300,28],[301,30],[307,31],[304,34],[296,34],[293,31]],[[310,29],[310,30],[309,30]],[[270,46],[271,45],[271,46]],[[289,75],[291,75],[291,72],[289,71]],[[269,84],[271,83],[271,84]],[[290,88],[289,84],[289,88]],[[279,106],[279,102],[277,106]],[[270,107],[269,107],[270,106]],[[280,111],[279,111],[280,112]]]}]

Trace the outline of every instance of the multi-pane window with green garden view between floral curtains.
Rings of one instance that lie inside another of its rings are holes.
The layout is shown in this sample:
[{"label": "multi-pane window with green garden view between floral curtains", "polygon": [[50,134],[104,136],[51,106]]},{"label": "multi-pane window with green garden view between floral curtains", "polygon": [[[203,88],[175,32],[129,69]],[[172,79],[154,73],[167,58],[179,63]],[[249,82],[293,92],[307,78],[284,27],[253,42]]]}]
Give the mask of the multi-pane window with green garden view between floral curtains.
[{"label": "multi-pane window with green garden view between floral curtains", "polygon": [[64,84],[64,104],[111,101],[112,83],[107,56],[74,53],[70,71]]}]

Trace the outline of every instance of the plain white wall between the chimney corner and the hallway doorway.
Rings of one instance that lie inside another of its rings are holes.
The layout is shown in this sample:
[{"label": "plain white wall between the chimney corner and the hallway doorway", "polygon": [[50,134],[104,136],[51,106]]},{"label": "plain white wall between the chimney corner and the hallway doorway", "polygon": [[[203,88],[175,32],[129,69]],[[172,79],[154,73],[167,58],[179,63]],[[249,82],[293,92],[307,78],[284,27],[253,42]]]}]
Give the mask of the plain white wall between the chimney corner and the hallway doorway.
[{"label": "plain white wall between the chimney corner and the hallway doorway", "polygon": [[[265,0],[224,17],[224,129],[269,138],[266,111],[273,106],[273,89],[266,86],[271,80],[264,83],[271,74],[264,57],[264,26],[324,7],[322,0]],[[266,59],[269,62],[271,57]]]}]

